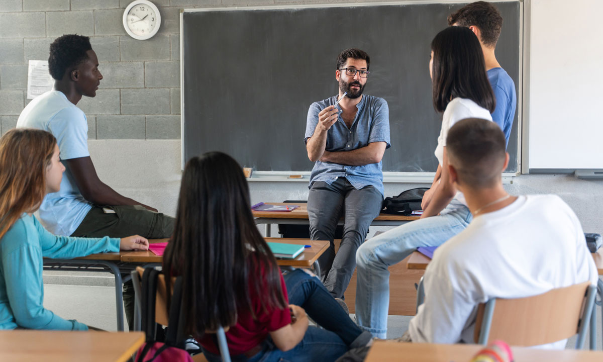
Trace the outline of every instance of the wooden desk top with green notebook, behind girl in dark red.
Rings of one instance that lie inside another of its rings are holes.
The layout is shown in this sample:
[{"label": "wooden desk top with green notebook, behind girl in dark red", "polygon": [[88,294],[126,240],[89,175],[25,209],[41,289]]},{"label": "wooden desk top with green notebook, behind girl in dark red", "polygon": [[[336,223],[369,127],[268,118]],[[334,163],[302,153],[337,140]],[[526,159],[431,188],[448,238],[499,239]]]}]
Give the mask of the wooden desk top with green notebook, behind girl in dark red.
[{"label": "wooden desk top with green notebook, behind girl in dark red", "polygon": [[[150,243],[161,243],[168,241],[169,239],[151,239]],[[311,267],[312,264],[321,256],[325,250],[329,247],[329,241],[317,241],[308,239],[291,239],[291,238],[264,238],[266,241],[272,241],[274,243],[288,243],[288,244],[300,244],[300,245],[311,245],[304,249],[304,251],[297,256],[295,259],[276,259],[277,264],[280,266],[291,265],[293,267]],[[96,254],[102,255],[102,254]],[[163,256],[155,255],[153,252],[124,252],[121,255],[121,261],[123,262],[162,262]]]}]

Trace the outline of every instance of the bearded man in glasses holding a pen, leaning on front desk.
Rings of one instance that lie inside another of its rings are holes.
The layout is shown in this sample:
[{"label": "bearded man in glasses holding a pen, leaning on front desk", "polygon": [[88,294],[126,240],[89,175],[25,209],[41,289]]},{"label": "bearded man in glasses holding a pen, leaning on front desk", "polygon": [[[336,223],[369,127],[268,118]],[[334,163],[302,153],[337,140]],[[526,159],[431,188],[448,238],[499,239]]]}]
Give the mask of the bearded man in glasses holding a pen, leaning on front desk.
[{"label": "bearded man in glasses holding a pen, leaning on front desk", "polygon": [[[339,54],[335,70],[339,94],[312,103],[304,139],[308,157],[315,162],[308,195],[310,238],[331,243],[318,263],[324,286],[342,306],[356,267],[356,250],[382,209],[381,159],[390,147],[387,102],[362,94],[369,66],[368,54],[360,49]],[[333,237],[341,215],[343,237],[335,255]]]}]

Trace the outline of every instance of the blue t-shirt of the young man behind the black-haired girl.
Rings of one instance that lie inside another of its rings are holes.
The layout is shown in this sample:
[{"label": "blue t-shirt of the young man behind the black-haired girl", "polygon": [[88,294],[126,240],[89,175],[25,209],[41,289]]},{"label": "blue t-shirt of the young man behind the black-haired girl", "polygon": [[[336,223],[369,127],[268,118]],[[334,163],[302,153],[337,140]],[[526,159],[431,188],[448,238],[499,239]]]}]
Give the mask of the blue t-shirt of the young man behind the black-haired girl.
[{"label": "blue t-shirt of the young man behind the black-haired girl", "polygon": [[513,79],[509,77],[505,69],[502,68],[490,69],[488,71],[488,79],[496,98],[496,109],[492,113],[492,120],[505,133],[505,140],[508,145],[511,127],[513,127],[513,119],[515,118],[515,109],[517,107],[515,83],[513,83]]}]

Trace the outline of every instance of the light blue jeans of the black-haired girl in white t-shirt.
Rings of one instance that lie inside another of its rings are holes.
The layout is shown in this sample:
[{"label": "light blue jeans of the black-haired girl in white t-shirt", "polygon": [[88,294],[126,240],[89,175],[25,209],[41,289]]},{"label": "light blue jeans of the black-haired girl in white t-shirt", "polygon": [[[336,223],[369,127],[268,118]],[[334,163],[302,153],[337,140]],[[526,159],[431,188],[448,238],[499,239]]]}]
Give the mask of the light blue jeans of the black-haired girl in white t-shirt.
[{"label": "light blue jeans of the black-haired girl in white t-shirt", "polygon": [[440,246],[473,219],[456,199],[440,215],[412,221],[368,240],[356,253],[356,322],[377,338],[386,338],[390,308],[388,267],[420,246]]}]

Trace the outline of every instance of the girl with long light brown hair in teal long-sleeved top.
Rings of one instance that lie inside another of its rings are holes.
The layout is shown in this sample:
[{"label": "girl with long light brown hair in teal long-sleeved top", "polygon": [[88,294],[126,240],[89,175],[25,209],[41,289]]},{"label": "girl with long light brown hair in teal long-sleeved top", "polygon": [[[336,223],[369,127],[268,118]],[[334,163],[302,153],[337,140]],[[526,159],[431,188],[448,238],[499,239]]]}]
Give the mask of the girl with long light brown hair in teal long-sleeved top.
[{"label": "girl with long light brown hair in teal long-sleeved top", "polygon": [[57,237],[32,215],[46,194],[58,192],[65,167],[55,138],[13,129],[0,139],[0,329],[87,330],[43,306],[42,258],[77,258],[119,250],[147,250],[139,236]]}]

